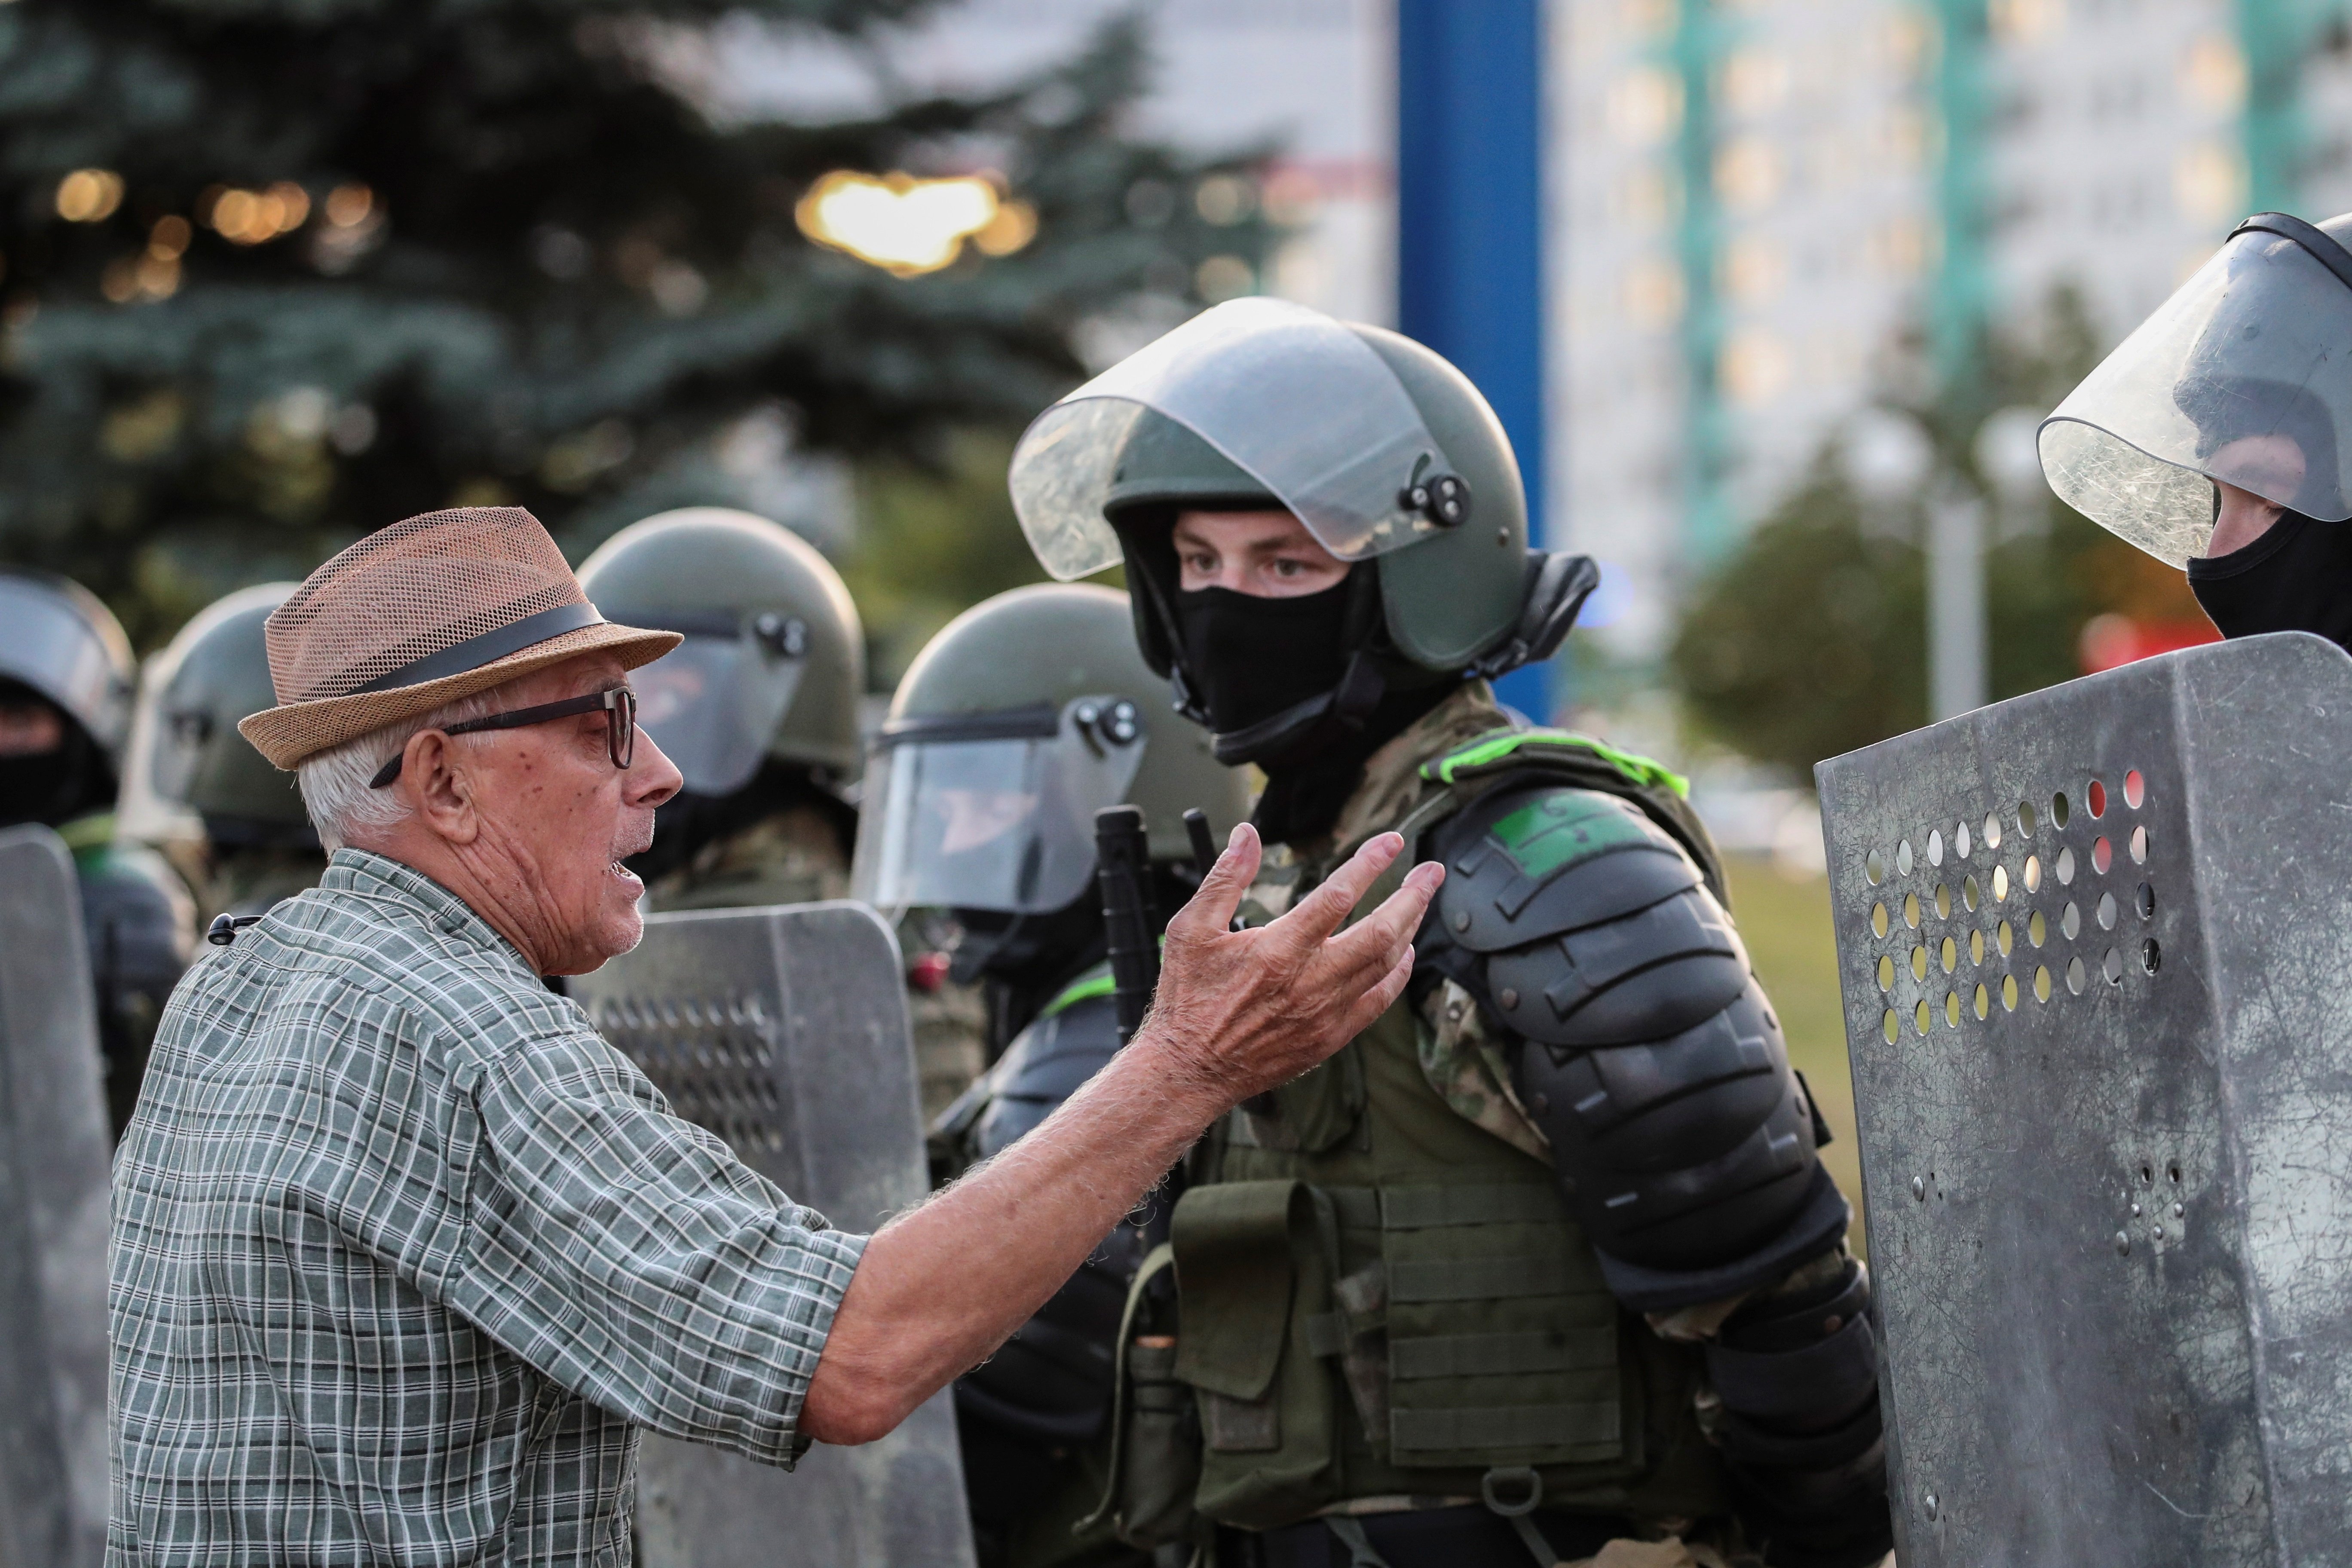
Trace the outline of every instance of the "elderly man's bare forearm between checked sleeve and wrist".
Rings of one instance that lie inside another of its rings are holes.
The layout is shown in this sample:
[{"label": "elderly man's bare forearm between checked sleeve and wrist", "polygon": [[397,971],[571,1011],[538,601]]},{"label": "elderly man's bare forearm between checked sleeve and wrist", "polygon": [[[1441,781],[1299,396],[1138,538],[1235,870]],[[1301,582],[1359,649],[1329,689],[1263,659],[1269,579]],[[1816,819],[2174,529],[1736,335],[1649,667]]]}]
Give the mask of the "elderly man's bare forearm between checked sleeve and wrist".
[{"label": "elderly man's bare forearm between checked sleeve and wrist", "polygon": [[1042,1126],[866,1246],[800,1427],[863,1443],[983,1361],[1223,1110],[1150,1027]]}]

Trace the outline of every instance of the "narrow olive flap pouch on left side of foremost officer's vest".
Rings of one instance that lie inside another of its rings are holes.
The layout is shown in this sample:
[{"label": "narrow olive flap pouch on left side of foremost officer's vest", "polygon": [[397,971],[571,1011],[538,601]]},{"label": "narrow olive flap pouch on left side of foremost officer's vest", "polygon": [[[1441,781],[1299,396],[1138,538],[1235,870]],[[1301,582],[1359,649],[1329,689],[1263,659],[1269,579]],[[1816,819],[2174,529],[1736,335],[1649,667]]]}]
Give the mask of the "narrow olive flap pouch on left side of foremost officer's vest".
[{"label": "narrow olive flap pouch on left side of foremost officer's vest", "polygon": [[1270,1528],[1336,1495],[1338,1389],[1310,1342],[1331,1312],[1334,1234],[1329,1199],[1298,1180],[1192,1187],[1176,1204],[1174,1371],[1200,1396],[1209,1519]]}]

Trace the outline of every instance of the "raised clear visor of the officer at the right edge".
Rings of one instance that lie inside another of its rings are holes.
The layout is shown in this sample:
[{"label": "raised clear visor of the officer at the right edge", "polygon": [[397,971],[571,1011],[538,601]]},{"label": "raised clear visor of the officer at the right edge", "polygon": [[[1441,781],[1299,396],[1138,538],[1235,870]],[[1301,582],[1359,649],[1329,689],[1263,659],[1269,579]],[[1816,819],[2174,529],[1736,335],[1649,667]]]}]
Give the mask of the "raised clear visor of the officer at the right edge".
[{"label": "raised clear visor of the officer at the right edge", "polygon": [[2352,287],[2303,244],[2246,230],[2042,423],[2058,498],[2176,567],[2213,536],[2213,480],[2352,517]]}]

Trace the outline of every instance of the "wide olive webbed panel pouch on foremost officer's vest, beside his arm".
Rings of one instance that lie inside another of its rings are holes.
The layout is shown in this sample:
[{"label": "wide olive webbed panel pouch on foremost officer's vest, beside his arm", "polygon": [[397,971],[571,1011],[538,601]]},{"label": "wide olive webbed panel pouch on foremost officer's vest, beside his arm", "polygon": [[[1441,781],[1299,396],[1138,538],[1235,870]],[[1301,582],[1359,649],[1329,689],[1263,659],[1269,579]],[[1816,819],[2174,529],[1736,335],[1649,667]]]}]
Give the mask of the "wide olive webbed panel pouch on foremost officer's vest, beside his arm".
[{"label": "wide olive webbed panel pouch on foremost officer's vest, beside his arm", "polygon": [[1390,1465],[1625,1455],[1618,1305],[1550,1180],[1381,1187],[1381,1255]]}]

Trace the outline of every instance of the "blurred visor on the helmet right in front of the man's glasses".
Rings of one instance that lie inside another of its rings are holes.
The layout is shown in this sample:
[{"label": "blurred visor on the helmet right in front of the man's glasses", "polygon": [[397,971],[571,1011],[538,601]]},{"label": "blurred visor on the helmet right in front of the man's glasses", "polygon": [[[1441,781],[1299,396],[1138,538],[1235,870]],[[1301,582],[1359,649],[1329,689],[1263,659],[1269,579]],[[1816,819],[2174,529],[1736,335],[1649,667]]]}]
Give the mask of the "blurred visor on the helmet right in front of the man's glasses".
[{"label": "blurred visor on the helmet right in front of the man's glasses", "polygon": [[800,691],[804,658],[757,637],[687,639],[630,672],[637,724],[687,776],[694,795],[734,795],[760,771]]}]

